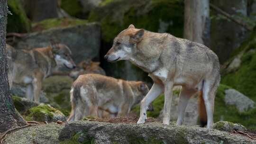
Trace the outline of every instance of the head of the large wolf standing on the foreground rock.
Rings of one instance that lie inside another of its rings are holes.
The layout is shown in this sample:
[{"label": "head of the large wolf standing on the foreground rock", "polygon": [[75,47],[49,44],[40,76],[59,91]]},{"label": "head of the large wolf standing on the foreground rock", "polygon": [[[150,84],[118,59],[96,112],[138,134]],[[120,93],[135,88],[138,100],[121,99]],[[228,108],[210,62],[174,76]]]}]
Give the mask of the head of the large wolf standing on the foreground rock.
[{"label": "head of the large wolf standing on the foreground rock", "polygon": [[137,44],[143,39],[144,29],[137,29],[130,25],[114,39],[113,46],[104,56],[108,62],[128,60],[137,51]]}]

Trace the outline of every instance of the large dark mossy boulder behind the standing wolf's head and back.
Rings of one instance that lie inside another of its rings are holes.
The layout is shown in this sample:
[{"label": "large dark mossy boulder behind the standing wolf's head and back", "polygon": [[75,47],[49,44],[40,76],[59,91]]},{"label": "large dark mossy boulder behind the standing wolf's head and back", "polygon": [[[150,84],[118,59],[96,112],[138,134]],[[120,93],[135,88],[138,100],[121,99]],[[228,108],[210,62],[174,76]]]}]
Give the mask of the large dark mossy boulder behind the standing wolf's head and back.
[{"label": "large dark mossy boulder behind the standing wolf's head and back", "polygon": [[[166,15],[168,13],[168,15]],[[183,0],[104,0],[92,9],[89,21],[101,23],[101,66],[106,74],[125,80],[152,83],[147,73],[128,61],[107,63],[103,56],[112,45],[115,36],[130,24],[153,32],[183,35]]]}]

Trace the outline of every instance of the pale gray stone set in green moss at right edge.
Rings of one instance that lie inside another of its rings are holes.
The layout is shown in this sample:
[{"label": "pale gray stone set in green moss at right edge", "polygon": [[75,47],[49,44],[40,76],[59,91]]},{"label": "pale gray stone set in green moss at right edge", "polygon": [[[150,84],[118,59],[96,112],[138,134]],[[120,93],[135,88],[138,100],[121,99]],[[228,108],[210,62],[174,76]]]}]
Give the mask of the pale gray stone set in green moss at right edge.
[{"label": "pale gray stone set in green moss at right edge", "polygon": [[235,105],[239,112],[244,112],[249,108],[254,108],[255,102],[243,95],[237,90],[225,90],[225,103],[228,105]]}]

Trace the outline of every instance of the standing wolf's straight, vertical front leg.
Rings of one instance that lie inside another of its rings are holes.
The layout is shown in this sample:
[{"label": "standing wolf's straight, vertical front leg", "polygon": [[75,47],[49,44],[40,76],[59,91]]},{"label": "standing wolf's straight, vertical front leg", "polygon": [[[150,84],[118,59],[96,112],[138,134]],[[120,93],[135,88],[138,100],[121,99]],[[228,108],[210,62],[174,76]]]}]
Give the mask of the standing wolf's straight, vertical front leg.
[{"label": "standing wolf's straight, vertical front leg", "polygon": [[164,118],[163,124],[170,124],[170,113],[171,113],[171,104],[173,99],[173,82],[168,81],[165,83],[165,105],[164,105]]}]

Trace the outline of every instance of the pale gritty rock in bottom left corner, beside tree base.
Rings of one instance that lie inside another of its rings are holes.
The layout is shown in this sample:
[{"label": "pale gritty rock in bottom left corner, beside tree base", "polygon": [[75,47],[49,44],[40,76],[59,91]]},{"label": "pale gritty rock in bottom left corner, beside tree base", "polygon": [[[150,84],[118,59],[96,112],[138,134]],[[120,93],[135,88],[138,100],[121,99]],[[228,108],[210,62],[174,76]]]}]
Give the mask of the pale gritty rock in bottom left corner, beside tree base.
[{"label": "pale gritty rock in bottom left corner, beside tree base", "polygon": [[59,132],[62,125],[29,126],[8,135],[4,144],[59,144]]}]

